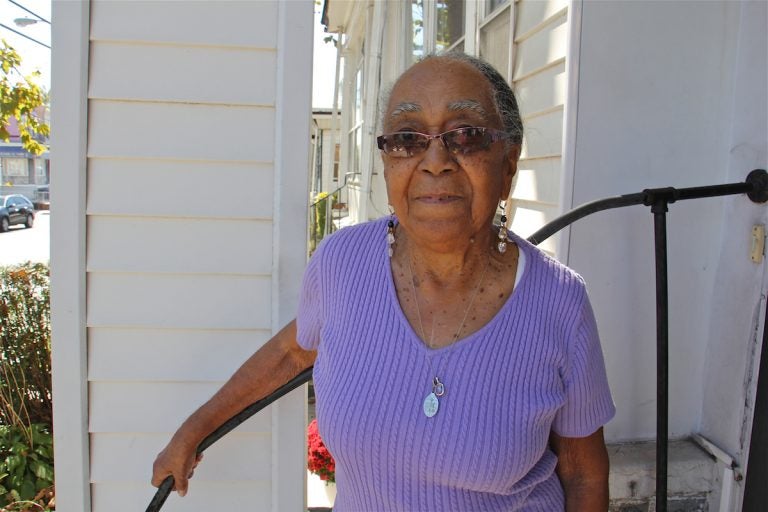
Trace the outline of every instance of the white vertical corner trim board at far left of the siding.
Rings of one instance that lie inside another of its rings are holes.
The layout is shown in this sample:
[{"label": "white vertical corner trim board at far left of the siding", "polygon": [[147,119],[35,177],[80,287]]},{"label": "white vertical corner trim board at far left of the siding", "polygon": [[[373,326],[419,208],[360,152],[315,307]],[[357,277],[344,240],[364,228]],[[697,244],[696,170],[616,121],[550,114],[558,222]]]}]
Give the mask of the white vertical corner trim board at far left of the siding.
[{"label": "white vertical corner trim board at far left of the siding", "polygon": [[51,359],[56,504],[89,511],[85,198],[90,3],[53,2]]}]

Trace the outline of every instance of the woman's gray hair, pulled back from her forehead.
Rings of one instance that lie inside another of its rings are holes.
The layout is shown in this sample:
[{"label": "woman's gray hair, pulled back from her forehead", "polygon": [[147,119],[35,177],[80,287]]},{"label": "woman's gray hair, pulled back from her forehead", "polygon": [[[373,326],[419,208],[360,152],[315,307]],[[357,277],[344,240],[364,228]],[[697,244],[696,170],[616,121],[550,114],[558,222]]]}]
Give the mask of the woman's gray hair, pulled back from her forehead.
[{"label": "woman's gray hair, pulled back from her forehead", "polygon": [[[522,144],[523,142],[523,120],[520,118],[520,109],[517,106],[517,99],[515,99],[515,93],[512,92],[512,88],[507,81],[501,76],[501,73],[496,71],[491,64],[479,57],[473,57],[467,55],[464,52],[448,52],[442,54],[430,53],[424,56],[419,62],[430,59],[440,59],[453,62],[464,62],[469,64],[480,73],[483,74],[488,81],[488,85],[493,90],[493,103],[496,107],[496,111],[501,118],[501,124],[504,131],[510,134],[510,141],[513,144]],[[402,76],[402,75],[401,75]],[[392,92],[392,87],[387,88],[382,97],[382,116],[384,118],[384,111],[389,103],[389,95]]]}]

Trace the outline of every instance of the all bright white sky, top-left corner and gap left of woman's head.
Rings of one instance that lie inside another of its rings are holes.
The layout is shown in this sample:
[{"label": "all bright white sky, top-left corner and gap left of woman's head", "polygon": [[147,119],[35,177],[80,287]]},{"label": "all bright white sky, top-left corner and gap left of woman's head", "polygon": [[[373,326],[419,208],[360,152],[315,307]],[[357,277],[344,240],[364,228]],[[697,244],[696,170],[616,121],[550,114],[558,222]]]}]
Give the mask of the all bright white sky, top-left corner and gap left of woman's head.
[{"label": "all bright white sky, top-left corner and gap left of woman's head", "polygon": [[[13,0],[39,16],[51,21],[50,0]],[[331,108],[333,106],[333,80],[336,66],[336,49],[333,43],[326,43],[323,38],[326,34],[320,24],[322,15],[322,3],[315,4],[315,34],[314,34],[314,69],[312,86],[312,107]],[[14,20],[19,18],[35,19],[35,16],[24,11],[9,0],[0,0],[0,23],[25,34],[41,43],[51,45],[51,26],[48,23],[38,21],[26,27],[19,27]],[[15,34],[9,28],[0,26],[0,37],[16,49],[22,59],[22,72],[29,74],[39,70],[42,77],[39,84],[46,90],[51,88],[51,50],[29,41]]]}]

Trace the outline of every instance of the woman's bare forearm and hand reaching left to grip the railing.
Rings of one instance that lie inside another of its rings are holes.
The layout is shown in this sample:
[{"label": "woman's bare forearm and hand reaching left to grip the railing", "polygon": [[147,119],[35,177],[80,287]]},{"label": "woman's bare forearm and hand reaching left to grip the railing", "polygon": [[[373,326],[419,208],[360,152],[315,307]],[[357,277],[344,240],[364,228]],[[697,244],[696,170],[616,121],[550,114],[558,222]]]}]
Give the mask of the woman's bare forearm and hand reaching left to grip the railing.
[{"label": "woman's bare forearm and hand reaching left to grip the railing", "polygon": [[216,392],[179,427],[152,468],[155,487],[173,475],[174,489],[187,493],[188,478],[197,465],[197,446],[229,418],[285,384],[315,362],[316,352],[296,342],[296,321],[291,321],[256,351]]}]

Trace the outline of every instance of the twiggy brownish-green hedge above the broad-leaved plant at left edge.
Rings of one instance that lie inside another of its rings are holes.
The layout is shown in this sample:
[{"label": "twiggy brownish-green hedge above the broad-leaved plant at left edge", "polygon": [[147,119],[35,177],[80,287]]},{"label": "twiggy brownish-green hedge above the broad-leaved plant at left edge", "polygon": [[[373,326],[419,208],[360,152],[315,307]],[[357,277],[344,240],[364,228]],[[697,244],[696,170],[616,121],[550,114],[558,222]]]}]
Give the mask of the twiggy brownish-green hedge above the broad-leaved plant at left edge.
[{"label": "twiggy brownish-green hedge above the broad-leaved plant at left edge", "polygon": [[0,268],[0,425],[52,424],[50,317],[47,265]]}]

